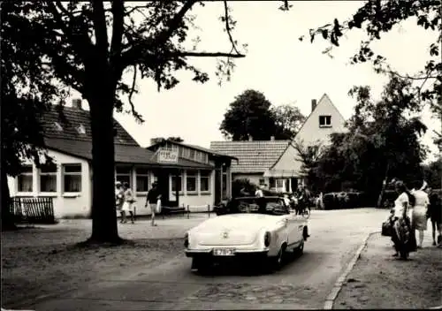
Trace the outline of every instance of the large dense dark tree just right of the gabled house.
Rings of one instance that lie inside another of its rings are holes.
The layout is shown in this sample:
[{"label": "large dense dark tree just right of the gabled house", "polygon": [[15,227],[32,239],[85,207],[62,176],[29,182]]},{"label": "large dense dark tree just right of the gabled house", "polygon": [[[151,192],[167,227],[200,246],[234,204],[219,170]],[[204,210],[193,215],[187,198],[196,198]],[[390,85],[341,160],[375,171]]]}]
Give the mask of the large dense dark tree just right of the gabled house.
[{"label": "large dense dark tree just right of the gabled house", "polygon": [[348,181],[353,188],[375,195],[386,178],[422,178],[426,149],[419,137],[426,126],[412,115],[420,106],[411,82],[392,75],[378,102],[371,99],[370,87],[354,87],[349,94],[357,103],[347,122],[348,132],[331,135],[330,146],[316,163],[316,178],[323,189],[339,191]]}]

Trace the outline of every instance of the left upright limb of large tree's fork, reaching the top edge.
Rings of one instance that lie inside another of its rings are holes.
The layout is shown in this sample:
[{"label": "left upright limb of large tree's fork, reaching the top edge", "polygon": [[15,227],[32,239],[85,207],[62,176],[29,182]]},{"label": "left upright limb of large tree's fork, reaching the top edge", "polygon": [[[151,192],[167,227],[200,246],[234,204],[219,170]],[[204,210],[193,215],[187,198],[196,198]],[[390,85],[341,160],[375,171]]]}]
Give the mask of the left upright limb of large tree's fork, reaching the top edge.
[{"label": "left upright limb of large tree's fork, reaching the top edge", "polygon": [[103,57],[103,59],[106,60],[107,62],[109,57],[109,52],[108,52],[109,42],[108,42],[108,33],[106,27],[106,17],[104,15],[103,1],[93,0],[92,7],[94,9],[92,18],[94,21],[96,49],[99,53],[99,58]]}]

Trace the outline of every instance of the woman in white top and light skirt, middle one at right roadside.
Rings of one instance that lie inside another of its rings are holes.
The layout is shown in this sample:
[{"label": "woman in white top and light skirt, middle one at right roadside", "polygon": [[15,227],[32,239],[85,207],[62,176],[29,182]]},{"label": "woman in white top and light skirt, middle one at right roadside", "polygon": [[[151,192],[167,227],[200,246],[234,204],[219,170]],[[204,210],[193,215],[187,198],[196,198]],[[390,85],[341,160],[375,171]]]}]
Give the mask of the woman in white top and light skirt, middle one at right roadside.
[{"label": "woman in white top and light skirt, middle one at right roadside", "polygon": [[[423,245],[423,232],[427,230],[427,210],[430,204],[428,194],[423,191],[426,187],[426,183],[416,183],[415,188],[411,190],[411,194],[415,197],[415,206],[412,208],[411,224],[414,230],[419,231],[419,243],[417,248],[422,248]],[[418,189],[418,190],[415,190]]]}]

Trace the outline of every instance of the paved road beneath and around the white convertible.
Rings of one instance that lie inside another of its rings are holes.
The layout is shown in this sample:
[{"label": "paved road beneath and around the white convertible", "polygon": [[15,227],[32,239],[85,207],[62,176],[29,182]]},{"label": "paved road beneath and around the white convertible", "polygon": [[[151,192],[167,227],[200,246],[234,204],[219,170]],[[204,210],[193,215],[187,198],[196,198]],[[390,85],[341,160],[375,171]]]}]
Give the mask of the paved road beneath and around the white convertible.
[{"label": "paved road beneath and around the white convertible", "polygon": [[331,287],[371,231],[379,231],[387,212],[377,209],[313,211],[305,253],[274,274],[235,269],[201,276],[179,255],[153,269],[123,275],[58,299],[35,310],[179,310],[322,308]]}]

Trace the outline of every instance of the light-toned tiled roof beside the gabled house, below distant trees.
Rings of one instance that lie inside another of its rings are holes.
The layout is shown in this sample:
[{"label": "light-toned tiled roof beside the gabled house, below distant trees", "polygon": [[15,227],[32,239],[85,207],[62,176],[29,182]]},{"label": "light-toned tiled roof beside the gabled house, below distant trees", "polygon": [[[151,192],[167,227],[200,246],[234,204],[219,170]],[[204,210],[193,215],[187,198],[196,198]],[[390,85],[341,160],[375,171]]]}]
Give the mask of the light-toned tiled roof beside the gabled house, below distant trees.
[{"label": "light-toned tiled roof beside the gabled house, below distant trees", "polygon": [[290,140],[212,141],[210,148],[238,158],[232,172],[264,172],[276,163]]}]

